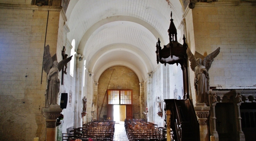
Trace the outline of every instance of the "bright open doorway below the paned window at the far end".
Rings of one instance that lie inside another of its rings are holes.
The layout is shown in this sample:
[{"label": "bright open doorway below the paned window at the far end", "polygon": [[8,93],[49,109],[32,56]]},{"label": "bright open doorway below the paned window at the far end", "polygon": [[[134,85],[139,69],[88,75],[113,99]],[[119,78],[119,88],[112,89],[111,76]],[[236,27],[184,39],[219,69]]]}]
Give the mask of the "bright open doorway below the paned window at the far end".
[{"label": "bright open doorway below the paned window at the far end", "polygon": [[126,118],[126,105],[114,105],[113,117],[117,123]]}]

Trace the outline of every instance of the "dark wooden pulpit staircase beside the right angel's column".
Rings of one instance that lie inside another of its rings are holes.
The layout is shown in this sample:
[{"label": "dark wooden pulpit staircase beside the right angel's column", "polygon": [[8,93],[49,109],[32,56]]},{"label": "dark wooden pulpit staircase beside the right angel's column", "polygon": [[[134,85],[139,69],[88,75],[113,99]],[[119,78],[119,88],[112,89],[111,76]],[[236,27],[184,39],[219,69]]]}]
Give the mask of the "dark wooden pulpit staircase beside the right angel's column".
[{"label": "dark wooden pulpit staircase beside the right angel's column", "polygon": [[175,141],[200,141],[199,124],[189,99],[164,99],[171,111],[171,129]]}]

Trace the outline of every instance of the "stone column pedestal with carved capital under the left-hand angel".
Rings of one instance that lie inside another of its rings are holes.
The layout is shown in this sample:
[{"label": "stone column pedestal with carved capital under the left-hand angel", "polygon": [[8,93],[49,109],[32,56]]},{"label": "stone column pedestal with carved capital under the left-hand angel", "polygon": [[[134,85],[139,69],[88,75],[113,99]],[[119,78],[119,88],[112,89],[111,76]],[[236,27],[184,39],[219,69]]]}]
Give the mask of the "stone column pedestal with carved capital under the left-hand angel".
[{"label": "stone column pedestal with carved capital under the left-hand angel", "polygon": [[42,114],[46,118],[46,141],[54,141],[56,135],[56,121],[62,112],[60,105],[50,105],[42,109]]}]

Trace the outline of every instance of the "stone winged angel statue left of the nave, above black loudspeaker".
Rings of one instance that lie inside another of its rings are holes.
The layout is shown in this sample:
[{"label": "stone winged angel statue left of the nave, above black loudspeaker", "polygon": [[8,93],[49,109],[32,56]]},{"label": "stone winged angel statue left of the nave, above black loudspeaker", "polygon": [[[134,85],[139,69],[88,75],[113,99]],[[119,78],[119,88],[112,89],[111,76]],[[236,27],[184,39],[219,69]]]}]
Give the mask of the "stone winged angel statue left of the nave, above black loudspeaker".
[{"label": "stone winged angel statue left of the nave, above black loudspeaker", "polygon": [[47,45],[43,56],[43,70],[47,73],[46,90],[45,90],[45,107],[58,105],[57,98],[60,89],[59,71],[68,63],[72,56],[63,59],[58,63],[56,54],[51,57],[50,47]]}]

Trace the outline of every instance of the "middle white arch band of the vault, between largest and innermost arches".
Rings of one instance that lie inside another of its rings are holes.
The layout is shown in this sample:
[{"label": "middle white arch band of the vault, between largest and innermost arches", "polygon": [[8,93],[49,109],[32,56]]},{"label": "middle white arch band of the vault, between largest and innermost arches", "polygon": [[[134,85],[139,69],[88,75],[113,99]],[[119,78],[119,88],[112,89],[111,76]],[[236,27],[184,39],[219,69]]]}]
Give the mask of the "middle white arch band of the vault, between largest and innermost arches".
[{"label": "middle white arch band of the vault, between largest and innermost arches", "polygon": [[97,61],[104,56],[105,54],[111,52],[111,51],[116,51],[116,50],[124,50],[128,51],[134,55],[136,55],[142,63],[144,64],[144,67],[146,69],[146,73],[152,71],[152,65],[148,61],[147,57],[138,49],[133,47],[133,45],[130,44],[111,44],[108,47],[104,47],[98,52],[96,55],[94,55],[94,58],[92,58],[92,61],[90,61],[88,71],[93,72],[95,66],[97,65]]}]

